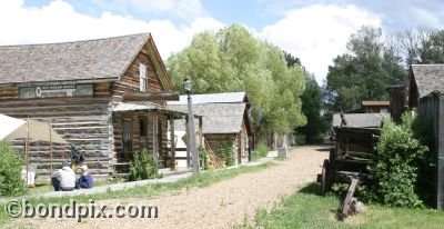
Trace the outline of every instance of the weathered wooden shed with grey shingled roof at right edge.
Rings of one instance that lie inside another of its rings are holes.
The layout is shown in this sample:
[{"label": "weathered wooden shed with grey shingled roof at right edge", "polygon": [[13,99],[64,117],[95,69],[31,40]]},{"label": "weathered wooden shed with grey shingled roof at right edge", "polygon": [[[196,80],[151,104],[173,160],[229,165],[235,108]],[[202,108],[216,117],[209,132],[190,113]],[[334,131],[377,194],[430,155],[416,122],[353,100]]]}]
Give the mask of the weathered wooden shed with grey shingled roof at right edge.
[{"label": "weathered wooden shed with grey shingled roof at right edge", "polygon": [[[433,133],[431,150],[436,152],[434,203],[444,208],[444,64],[412,64],[410,69],[408,106],[417,108]],[[431,190],[432,191],[432,190]]]}]

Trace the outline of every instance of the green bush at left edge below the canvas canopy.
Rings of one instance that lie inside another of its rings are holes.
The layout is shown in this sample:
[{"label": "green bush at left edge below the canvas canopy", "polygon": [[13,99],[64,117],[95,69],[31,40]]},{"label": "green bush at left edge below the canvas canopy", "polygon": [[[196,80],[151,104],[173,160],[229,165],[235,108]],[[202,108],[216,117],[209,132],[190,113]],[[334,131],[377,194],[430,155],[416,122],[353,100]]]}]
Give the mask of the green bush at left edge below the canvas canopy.
[{"label": "green bush at left edge below the canvas canopy", "polygon": [[7,142],[0,142],[0,197],[24,192],[21,168],[23,160]]}]

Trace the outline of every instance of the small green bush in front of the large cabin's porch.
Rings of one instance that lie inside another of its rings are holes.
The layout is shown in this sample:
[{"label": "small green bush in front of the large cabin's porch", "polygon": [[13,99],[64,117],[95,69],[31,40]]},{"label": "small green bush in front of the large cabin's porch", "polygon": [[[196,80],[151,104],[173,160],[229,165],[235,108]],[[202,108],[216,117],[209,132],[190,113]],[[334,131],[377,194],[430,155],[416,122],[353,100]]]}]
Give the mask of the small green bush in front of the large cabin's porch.
[{"label": "small green bush in front of the large cabin's porch", "polygon": [[147,150],[134,152],[134,158],[130,165],[129,180],[134,181],[159,177],[158,161],[153,155]]}]

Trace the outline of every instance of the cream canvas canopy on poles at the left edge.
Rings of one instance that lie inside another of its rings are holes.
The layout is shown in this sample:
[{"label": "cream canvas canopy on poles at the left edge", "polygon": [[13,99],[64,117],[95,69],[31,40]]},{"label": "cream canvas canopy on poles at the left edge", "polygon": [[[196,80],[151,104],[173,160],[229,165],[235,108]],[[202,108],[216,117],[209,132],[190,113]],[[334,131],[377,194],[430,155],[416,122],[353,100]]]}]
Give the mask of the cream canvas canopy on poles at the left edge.
[{"label": "cream canvas canopy on poles at the left edge", "polygon": [[36,120],[22,120],[16,119],[9,116],[0,113],[0,140],[24,140],[24,161],[26,168],[23,173],[26,173],[26,180],[28,185],[33,185],[34,175],[30,175],[29,170],[29,140],[40,140],[50,142],[50,167],[52,172],[52,143],[69,143],[61,136],[59,136],[51,127],[51,123],[36,121]]}]

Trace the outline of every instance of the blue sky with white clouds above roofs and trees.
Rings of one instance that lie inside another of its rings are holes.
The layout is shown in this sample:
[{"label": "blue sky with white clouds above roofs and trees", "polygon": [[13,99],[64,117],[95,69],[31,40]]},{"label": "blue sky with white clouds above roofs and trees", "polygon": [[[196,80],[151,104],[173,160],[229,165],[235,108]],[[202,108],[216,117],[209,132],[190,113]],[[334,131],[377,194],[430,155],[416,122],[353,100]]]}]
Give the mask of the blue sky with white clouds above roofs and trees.
[{"label": "blue sky with white clouds above roofs and trees", "polygon": [[246,27],[301,59],[322,84],[362,26],[444,28],[444,0],[0,0],[0,46],[151,32],[167,61],[204,30]]}]

